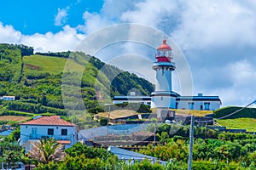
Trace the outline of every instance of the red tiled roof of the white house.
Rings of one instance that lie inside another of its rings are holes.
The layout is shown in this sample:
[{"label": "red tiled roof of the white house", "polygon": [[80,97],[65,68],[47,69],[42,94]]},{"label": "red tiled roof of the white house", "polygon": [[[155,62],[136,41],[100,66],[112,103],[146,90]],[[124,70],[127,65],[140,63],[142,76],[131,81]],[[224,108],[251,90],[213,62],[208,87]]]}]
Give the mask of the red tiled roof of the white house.
[{"label": "red tiled roof of the white house", "polygon": [[76,126],[71,122],[64,121],[63,119],[60,118],[60,116],[42,116],[28,122],[23,122],[20,125],[55,125],[55,126],[68,126],[68,127]]}]

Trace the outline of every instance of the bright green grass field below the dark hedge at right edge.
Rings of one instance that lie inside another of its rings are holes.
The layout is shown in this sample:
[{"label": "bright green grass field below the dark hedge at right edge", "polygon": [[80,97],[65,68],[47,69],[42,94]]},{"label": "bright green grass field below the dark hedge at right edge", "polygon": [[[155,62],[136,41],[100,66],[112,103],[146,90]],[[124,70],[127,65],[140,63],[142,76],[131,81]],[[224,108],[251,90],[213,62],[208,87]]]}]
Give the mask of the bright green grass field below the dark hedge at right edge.
[{"label": "bright green grass field below the dark hedge at right edge", "polygon": [[243,128],[247,132],[256,132],[256,119],[255,118],[236,118],[236,119],[221,119],[217,121],[221,126],[227,128]]}]

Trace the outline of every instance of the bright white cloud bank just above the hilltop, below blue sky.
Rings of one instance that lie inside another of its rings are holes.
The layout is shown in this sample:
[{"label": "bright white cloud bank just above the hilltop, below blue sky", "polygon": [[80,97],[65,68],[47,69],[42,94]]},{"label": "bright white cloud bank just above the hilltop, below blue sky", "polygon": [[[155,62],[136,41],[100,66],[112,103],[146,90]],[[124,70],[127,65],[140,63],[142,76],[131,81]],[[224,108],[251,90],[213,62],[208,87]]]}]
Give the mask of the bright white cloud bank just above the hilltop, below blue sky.
[{"label": "bright white cloud bank just above the hilltop, below blue sky", "polygon": [[75,28],[70,26],[64,26],[62,31],[55,34],[49,31],[45,34],[22,35],[13,26],[3,26],[0,22],[0,42],[22,43],[32,46],[35,52],[73,50],[84,37],[83,34],[79,34]]}]

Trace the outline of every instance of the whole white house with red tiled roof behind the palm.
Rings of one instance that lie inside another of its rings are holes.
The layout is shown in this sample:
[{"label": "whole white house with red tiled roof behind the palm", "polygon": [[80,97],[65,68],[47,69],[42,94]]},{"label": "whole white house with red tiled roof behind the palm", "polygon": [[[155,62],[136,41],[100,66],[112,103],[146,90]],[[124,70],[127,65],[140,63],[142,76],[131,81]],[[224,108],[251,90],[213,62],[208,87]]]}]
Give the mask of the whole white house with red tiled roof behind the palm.
[{"label": "whole white house with red tiled roof behind the palm", "polygon": [[60,116],[37,116],[20,124],[20,145],[26,147],[32,141],[54,138],[65,144],[65,148],[70,148],[78,141],[78,131],[75,124],[62,120]]}]

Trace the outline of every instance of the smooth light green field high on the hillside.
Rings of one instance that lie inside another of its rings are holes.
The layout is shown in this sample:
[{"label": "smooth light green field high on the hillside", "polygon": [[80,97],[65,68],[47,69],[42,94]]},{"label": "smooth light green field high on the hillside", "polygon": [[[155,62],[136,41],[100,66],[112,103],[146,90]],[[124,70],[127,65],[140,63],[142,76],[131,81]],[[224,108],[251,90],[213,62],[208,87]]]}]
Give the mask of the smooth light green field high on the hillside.
[{"label": "smooth light green field high on the hillside", "polygon": [[71,60],[49,57],[44,55],[31,55],[24,57],[24,71],[35,71],[35,72],[48,72],[50,74],[60,74],[64,71],[65,65],[68,66],[68,71],[81,71],[84,70],[82,65],[79,65]]}]

